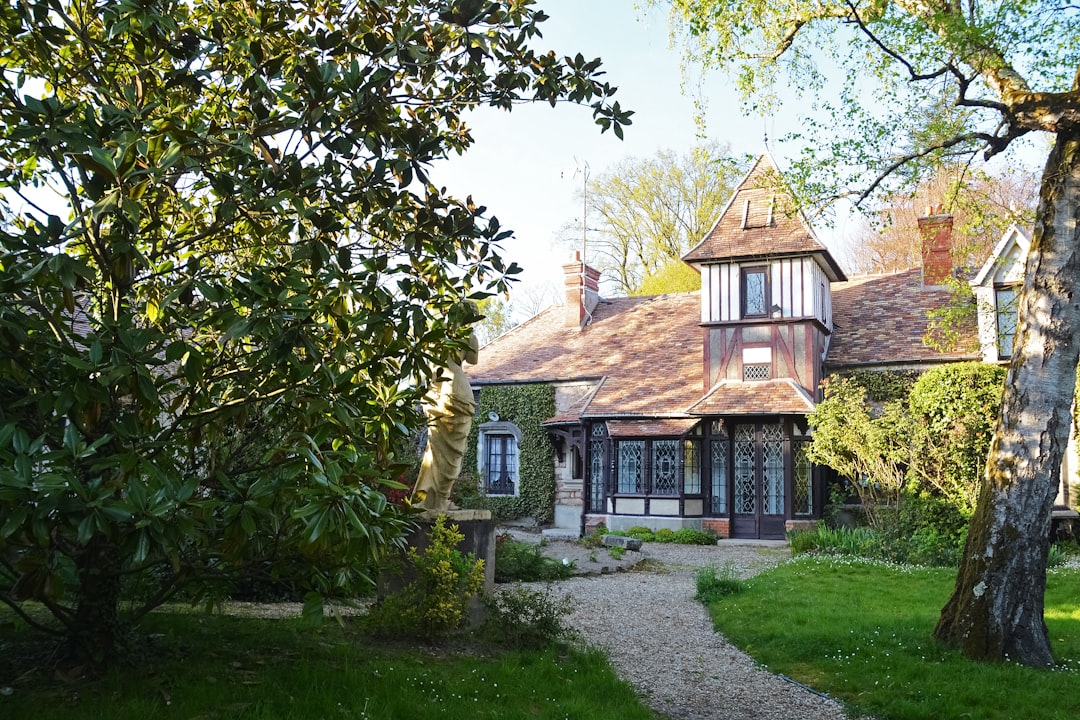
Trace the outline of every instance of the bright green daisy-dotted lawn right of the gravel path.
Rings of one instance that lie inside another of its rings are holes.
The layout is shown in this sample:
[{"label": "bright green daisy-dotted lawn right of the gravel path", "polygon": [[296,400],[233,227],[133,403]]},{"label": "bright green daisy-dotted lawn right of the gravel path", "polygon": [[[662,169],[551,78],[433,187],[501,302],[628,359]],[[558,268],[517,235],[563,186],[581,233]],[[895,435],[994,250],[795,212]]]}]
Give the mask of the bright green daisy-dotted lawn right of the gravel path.
[{"label": "bright green daisy-dotted lawn right of the gravel path", "polygon": [[1058,666],[973,663],[932,638],[955,570],[802,557],[710,603],[716,628],[769,670],[881,720],[1080,717],[1080,571],[1050,573]]}]

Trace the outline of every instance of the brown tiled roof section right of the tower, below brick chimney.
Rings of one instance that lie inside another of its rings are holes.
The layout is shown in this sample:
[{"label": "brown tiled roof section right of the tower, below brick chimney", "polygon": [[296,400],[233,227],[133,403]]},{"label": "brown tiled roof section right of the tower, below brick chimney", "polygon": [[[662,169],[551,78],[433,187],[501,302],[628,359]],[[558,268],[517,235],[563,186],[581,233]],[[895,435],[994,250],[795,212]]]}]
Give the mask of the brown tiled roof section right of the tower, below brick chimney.
[{"label": "brown tiled roof section right of the tower, below brick chimney", "polygon": [[[825,358],[829,369],[981,357],[976,350],[942,353],[922,341],[927,313],[945,304],[949,290],[923,287],[919,269],[856,277],[832,287],[834,331]],[[977,349],[974,322],[961,335],[959,347]]]}]

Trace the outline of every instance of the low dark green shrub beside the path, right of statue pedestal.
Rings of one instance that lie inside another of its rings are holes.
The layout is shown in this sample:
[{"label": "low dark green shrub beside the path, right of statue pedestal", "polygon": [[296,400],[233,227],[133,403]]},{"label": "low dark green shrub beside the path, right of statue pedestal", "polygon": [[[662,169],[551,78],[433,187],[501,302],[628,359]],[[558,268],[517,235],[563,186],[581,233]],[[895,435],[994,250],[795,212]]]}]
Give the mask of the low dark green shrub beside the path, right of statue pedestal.
[{"label": "low dark green shrub beside the path, right of statue pedestal", "polygon": [[570,631],[565,619],[573,608],[569,597],[530,590],[521,585],[485,596],[487,616],[481,631],[501,648],[535,650],[564,640]]}]

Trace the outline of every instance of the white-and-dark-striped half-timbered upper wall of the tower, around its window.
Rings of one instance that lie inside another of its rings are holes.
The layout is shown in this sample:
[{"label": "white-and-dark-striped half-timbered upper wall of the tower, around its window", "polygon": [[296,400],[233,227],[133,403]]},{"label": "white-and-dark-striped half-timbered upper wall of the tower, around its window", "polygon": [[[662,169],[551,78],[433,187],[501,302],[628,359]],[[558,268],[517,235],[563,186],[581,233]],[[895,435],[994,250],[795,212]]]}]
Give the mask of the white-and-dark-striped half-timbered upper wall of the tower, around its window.
[{"label": "white-and-dark-striped half-timbered upper wall of the tower, around its window", "polygon": [[701,321],[742,320],[742,269],[762,264],[769,268],[770,304],[780,308],[781,317],[814,317],[832,330],[829,281],[812,257],[701,266]]}]

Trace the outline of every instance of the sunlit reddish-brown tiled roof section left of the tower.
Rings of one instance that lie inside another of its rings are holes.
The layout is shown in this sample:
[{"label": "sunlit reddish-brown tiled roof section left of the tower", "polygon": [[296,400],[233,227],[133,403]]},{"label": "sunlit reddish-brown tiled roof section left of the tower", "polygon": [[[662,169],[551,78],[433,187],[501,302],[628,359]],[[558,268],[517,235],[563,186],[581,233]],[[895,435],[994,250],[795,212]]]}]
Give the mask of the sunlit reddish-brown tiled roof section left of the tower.
[{"label": "sunlit reddish-brown tiled roof section left of the tower", "polygon": [[[600,378],[589,417],[686,417],[701,396],[703,335],[697,293],[602,300],[584,328],[549,308],[481,348],[474,384]],[[567,415],[567,413],[563,413]],[[559,417],[550,422],[567,420]]]}]

